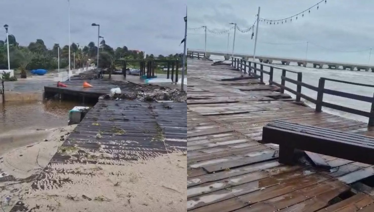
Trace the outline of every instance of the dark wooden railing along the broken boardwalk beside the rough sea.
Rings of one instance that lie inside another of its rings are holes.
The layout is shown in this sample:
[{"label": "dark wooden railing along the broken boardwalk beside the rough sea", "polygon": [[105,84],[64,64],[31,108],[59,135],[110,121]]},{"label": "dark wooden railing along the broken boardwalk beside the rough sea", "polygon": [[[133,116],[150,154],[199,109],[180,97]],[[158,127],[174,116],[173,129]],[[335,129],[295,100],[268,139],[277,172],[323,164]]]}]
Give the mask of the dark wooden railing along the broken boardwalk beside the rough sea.
[{"label": "dark wooden railing along the broken boardwalk beside the rough sea", "polygon": [[[274,67],[273,65],[267,65],[263,63],[258,63],[258,62],[252,62],[252,61],[246,61],[244,59],[239,59],[239,58],[231,58],[231,65],[232,67],[236,68],[238,71],[243,71],[244,73],[248,73],[248,75],[256,76],[260,79],[261,83],[264,83],[264,74],[269,75],[269,85],[276,85],[278,86],[281,90],[281,93],[284,93],[285,90],[288,92],[296,95],[296,101],[301,101],[301,98],[306,99],[307,101],[312,102],[313,104],[316,105],[316,111],[321,112],[322,107],[327,107],[331,108],[334,110],[339,110],[339,111],[344,111],[346,113],[351,113],[351,114],[356,114],[359,116],[364,116],[369,118],[368,126],[374,126],[374,94],[373,97],[369,96],[362,96],[362,95],[357,95],[353,93],[346,93],[346,92],[341,92],[337,90],[331,90],[325,88],[325,81],[332,81],[332,82],[338,82],[338,83],[345,83],[345,84],[350,84],[350,85],[357,85],[357,86],[365,86],[365,87],[374,87],[374,85],[367,85],[367,84],[361,84],[361,83],[353,83],[353,82],[347,82],[347,81],[342,81],[342,80],[334,80],[334,79],[327,79],[321,77],[319,79],[319,84],[318,87],[309,85],[307,83],[303,82],[303,73],[297,72],[297,71],[291,71],[287,70],[285,68],[278,68]],[[264,67],[269,67],[270,71],[265,71]],[[281,75],[281,83],[276,83],[273,81],[273,75],[274,75],[274,70],[282,70],[282,75]],[[259,73],[259,74],[258,74]],[[286,76],[287,73],[294,73],[297,74],[297,79],[291,79]],[[285,86],[285,82],[292,83],[296,85],[296,90],[291,89],[287,86]],[[307,89],[314,90],[317,92],[317,99],[313,99],[310,96],[307,96],[303,93],[301,93],[301,90],[303,87],[306,87]],[[362,110],[357,110],[353,108],[348,108],[344,107],[341,105],[336,105],[328,102],[323,101],[323,96],[324,94],[329,94],[329,95],[334,95],[334,96],[340,96],[344,98],[349,98],[349,99],[355,99],[359,101],[364,101],[364,102],[369,102],[371,103],[371,110],[370,112],[362,111]]]}]

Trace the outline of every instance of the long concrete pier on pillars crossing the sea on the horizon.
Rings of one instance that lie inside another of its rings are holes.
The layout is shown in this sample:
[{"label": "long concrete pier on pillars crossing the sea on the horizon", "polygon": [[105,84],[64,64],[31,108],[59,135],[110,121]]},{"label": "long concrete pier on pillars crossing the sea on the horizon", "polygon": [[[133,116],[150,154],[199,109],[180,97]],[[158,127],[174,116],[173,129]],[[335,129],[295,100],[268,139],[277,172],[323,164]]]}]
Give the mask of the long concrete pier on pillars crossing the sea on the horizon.
[{"label": "long concrete pier on pillars crossing the sea on the horizon", "polygon": [[[193,55],[193,57],[196,58],[203,58],[205,57],[205,51],[204,50],[198,50],[198,49],[188,49],[187,50],[188,55]],[[206,52],[206,58],[210,58],[211,55],[217,55],[217,56],[224,56],[225,59],[229,59],[232,54],[228,54],[227,52],[218,52],[218,51],[207,51]],[[248,60],[250,58],[253,58],[253,55],[250,54],[238,54],[234,53],[234,57],[242,58],[245,60]],[[365,70],[374,72],[374,65],[368,65],[368,64],[353,64],[353,63],[345,63],[345,62],[331,62],[331,61],[319,61],[319,60],[309,60],[309,59],[300,59],[300,58],[287,58],[287,57],[276,57],[276,56],[264,56],[264,55],[256,55],[256,59],[259,59],[260,62],[266,62],[269,64],[272,64],[273,62],[281,62],[283,65],[289,65],[291,63],[297,63],[297,65],[304,67],[307,66],[307,64],[312,64],[314,68],[342,68],[344,70]]]}]

